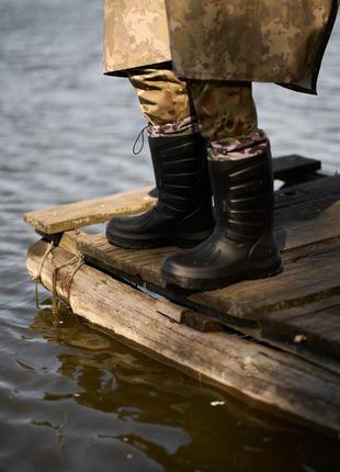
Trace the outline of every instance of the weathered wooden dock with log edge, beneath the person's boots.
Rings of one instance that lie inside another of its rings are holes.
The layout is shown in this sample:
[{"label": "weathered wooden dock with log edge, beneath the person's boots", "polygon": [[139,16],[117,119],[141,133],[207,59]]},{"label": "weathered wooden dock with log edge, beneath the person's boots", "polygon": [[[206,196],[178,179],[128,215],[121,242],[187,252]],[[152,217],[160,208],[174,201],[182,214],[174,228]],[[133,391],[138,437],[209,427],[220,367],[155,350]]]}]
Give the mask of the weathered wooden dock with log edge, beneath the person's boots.
[{"label": "weathered wooden dock with log edge, beneath the person's boots", "polygon": [[150,188],[27,213],[43,239],[32,277],[77,315],[202,381],[340,432],[340,176],[274,159],[284,271],[209,292],[170,291],[159,268],[175,247],[126,250],[86,226],[155,204]]}]

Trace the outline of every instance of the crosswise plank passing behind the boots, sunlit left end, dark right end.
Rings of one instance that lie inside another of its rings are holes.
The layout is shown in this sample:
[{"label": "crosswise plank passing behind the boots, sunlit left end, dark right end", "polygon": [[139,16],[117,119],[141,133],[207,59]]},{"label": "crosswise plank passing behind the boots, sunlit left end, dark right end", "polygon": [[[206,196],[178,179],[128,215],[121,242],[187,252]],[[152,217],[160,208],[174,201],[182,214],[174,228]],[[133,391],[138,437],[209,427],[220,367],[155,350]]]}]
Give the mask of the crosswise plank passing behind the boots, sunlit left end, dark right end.
[{"label": "crosswise plank passing behind the boots, sunlit left end, dark right end", "polygon": [[[318,160],[302,156],[285,156],[273,160],[274,176],[283,180],[292,178],[294,169],[302,175],[313,172],[319,167]],[[26,213],[24,221],[48,235],[103,223],[115,215],[139,213],[151,207],[156,199],[149,195],[150,190],[151,187],[145,187],[104,198],[38,210]],[[284,193],[282,195],[284,196]],[[280,199],[282,200],[282,196]]]}]

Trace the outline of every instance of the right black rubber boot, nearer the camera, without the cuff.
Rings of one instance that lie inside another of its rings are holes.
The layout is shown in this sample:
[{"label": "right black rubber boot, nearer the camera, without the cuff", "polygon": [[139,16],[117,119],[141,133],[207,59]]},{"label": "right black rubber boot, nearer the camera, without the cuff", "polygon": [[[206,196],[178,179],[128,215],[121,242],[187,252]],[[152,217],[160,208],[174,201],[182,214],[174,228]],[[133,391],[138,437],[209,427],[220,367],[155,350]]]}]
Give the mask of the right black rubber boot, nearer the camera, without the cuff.
[{"label": "right black rubber boot, nearer the camera, without the cuff", "polygon": [[241,160],[209,160],[209,171],[215,231],[197,247],[167,258],[162,279],[183,289],[213,290],[281,272],[270,149]]}]

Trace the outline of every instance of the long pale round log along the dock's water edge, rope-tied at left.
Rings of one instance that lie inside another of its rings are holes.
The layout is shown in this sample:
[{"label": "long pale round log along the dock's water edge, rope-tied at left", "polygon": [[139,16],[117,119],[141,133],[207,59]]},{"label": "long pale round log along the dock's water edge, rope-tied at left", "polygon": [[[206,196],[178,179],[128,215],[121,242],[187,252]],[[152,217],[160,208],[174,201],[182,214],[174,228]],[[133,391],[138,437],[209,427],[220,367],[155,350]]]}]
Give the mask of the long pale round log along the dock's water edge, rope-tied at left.
[{"label": "long pale round log along the dock's water edge, rope-tied at left", "polygon": [[[37,276],[46,243],[29,250],[27,268]],[[55,248],[45,259],[42,282],[50,290],[55,267],[71,255]],[[230,336],[199,333],[159,314],[157,301],[83,265],[58,272],[57,293],[72,311],[115,335],[136,342],[177,367],[218,383],[238,395],[340,431],[340,378],[294,356]]]}]

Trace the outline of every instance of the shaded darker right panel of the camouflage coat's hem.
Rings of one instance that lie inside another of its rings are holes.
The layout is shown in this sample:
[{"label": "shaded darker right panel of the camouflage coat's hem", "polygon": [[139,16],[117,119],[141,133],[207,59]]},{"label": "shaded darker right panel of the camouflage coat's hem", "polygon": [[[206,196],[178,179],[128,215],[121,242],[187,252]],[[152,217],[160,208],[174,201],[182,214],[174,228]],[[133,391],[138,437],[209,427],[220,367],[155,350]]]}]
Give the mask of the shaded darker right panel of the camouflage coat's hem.
[{"label": "shaded darker right panel of the camouflage coat's hem", "polygon": [[315,92],[338,0],[167,0],[179,77]]}]

